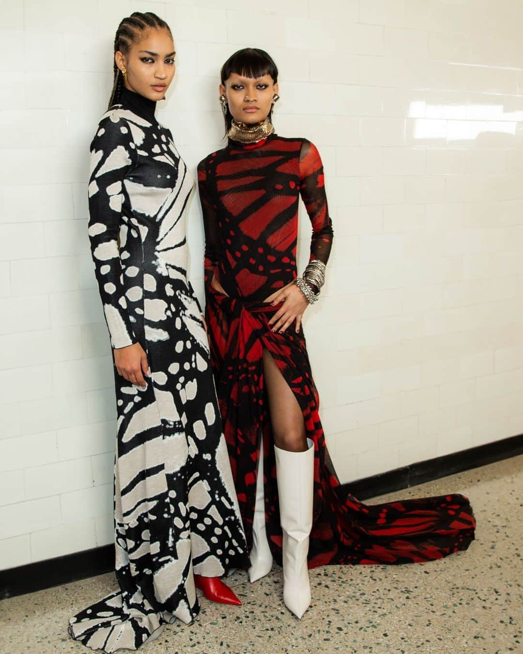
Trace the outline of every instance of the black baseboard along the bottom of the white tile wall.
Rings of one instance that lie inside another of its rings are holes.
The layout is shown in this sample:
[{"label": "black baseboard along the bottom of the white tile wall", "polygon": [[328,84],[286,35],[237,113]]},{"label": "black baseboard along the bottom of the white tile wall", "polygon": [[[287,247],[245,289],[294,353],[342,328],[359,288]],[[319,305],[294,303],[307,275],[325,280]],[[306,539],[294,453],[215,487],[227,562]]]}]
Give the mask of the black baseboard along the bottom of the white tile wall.
[{"label": "black baseboard along the bottom of the white tile wall", "polygon": [[[345,487],[350,488],[350,492],[360,500],[366,500],[520,454],[523,454],[523,434],[358,479]],[[0,600],[85,579],[113,569],[114,545],[104,545],[56,559],[0,570]]]}]

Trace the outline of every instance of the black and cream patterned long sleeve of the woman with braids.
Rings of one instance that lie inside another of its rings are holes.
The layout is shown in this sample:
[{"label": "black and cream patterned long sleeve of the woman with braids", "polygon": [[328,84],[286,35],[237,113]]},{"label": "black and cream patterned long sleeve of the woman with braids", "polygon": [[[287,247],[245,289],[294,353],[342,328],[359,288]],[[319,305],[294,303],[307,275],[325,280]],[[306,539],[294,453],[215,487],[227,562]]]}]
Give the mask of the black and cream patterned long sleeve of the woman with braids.
[{"label": "black and cream patterned long sleeve of the woman with braids", "polygon": [[101,120],[91,143],[89,237],[110,342],[120,348],[138,340],[127,311],[118,247],[123,181],[137,164],[138,155],[127,121],[113,117]]}]

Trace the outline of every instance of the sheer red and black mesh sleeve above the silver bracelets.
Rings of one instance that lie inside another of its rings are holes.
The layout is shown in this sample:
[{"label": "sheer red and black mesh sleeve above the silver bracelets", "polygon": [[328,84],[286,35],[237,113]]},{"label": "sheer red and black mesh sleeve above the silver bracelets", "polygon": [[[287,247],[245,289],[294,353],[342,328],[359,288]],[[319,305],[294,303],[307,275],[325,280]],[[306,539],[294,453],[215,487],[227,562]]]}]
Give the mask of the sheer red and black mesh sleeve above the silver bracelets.
[{"label": "sheer red and black mesh sleeve above the silver bracelets", "polygon": [[299,192],[312,223],[311,256],[326,264],[333,231],[325,194],[323,164],[314,143],[304,140],[299,152]]}]

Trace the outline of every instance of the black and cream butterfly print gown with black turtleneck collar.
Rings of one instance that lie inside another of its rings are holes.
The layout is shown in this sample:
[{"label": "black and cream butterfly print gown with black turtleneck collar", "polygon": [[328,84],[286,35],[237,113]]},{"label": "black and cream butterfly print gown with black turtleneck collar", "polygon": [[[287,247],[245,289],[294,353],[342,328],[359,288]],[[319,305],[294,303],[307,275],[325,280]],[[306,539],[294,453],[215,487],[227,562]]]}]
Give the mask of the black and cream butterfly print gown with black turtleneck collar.
[{"label": "black and cream butterfly print gown with black turtleneck collar", "polygon": [[194,180],[155,107],[124,88],[91,144],[89,235],[111,345],[141,343],[150,367],[144,389],[114,368],[120,589],[69,621],[73,638],[106,652],[136,649],[175,618],[190,622],[199,611],[193,572],[249,565],[209,344],[186,277]]}]

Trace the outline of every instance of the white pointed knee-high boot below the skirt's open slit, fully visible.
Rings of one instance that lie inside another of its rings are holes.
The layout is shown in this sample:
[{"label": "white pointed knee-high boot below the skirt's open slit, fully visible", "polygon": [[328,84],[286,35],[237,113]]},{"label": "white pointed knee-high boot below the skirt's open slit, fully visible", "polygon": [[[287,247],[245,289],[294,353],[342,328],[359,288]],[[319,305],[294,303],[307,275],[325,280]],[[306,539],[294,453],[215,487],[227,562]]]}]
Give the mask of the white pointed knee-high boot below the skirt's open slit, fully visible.
[{"label": "white pointed knee-high boot below the skirt's open slit, fully visible", "polygon": [[314,443],[307,438],[307,445],[306,452],[274,448],[283,530],[283,600],[297,617],[311,604],[307,554],[312,528]]}]

